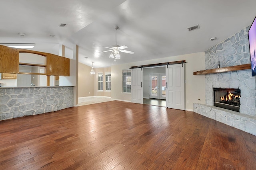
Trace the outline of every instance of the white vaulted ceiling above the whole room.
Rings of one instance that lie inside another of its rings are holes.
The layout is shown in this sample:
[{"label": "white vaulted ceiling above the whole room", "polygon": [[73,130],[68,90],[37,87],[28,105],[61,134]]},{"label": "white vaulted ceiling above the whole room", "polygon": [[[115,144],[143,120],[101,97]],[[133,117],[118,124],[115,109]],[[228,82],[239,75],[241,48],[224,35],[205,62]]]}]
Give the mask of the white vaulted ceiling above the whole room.
[{"label": "white vaulted ceiling above the whole room", "polygon": [[[63,44],[69,58],[76,44],[79,62],[91,66],[93,61],[94,67],[206,51],[256,15],[256,0],[0,1],[0,43],[36,43],[32,50],[56,55]],[[200,29],[188,31],[197,24]],[[108,58],[110,52],[98,53],[106,50],[100,46],[115,44],[114,25],[119,27],[117,44],[135,52],[120,53],[116,62]]]}]

